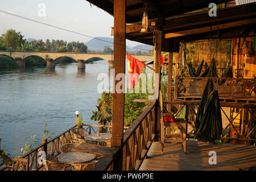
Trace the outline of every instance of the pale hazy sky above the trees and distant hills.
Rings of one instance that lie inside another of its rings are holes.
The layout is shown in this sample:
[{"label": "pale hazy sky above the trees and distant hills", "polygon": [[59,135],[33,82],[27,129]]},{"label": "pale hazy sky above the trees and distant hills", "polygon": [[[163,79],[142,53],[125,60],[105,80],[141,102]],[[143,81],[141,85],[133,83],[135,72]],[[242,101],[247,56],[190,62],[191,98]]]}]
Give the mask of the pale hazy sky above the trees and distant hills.
[{"label": "pale hazy sky above the trees and distant hills", "polygon": [[[91,7],[85,0],[0,0],[0,10],[92,37],[111,37],[114,26],[112,15],[97,6]],[[0,35],[13,28],[25,39],[62,39],[84,43],[92,39],[2,12],[0,25]],[[134,47],[139,43],[127,40],[126,44]]]}]

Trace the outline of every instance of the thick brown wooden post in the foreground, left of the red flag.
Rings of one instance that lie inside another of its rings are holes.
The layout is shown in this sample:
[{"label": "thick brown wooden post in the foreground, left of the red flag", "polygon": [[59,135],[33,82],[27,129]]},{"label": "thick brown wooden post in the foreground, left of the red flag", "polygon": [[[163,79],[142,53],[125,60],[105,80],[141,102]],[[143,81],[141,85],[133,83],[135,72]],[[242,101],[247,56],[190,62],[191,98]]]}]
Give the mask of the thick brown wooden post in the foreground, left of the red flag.
[{"label": "thick brown wooden post in the foreground, left of the red flag", "polygon": [[[125,73],[125,15],[126,0],[114,0],[114,70],[115,77],[118,73]],[[115,80],[113,90],[113,124],[111,146],[121,147],[123,143],[123,117],[125,104],[125,88],[122,93],[115,91],[115,85],[120,80]],[[124,82],[124,80],[122,80]],[[120,153],[122,154],[122,152]],[[122,164],[122,162],[120,163]]]}]

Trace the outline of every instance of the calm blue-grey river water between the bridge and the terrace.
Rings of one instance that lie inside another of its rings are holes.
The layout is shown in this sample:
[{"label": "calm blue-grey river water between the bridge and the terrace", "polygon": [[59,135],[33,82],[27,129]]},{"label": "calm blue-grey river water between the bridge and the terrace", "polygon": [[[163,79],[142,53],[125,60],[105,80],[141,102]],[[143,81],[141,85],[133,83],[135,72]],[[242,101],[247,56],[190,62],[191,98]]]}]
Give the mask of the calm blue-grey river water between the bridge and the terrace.
[{"label": "calm blue-grey river water between the bridge and the terrace", "polygon": [[79,110],[85,123],[96,110],[99,73],[108,73],[104,60],[86,64],[57,64],[55,69],[28,67],[0,71],[1,148],[11,155],[24,145],[24,138],[42,139],[44,123],[50,133],[59,134],[75,125]]}]

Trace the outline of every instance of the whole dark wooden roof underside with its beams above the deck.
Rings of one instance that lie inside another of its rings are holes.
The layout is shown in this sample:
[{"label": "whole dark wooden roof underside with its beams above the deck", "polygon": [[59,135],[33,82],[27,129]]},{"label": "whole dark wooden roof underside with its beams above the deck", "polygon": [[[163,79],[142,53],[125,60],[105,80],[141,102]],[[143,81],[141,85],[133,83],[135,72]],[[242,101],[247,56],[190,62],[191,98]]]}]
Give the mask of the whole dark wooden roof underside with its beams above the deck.
[{"label": "whole dark wooden roof underside with its beams above the deck", "polygon": [[[175,42],[214,39],[230,39],[245,36],[256,28],[256,3],[219,9],[217,16],[210,17],[208,11],[189,13],[228,1],[203,0],[126,0],[126,39],[154,45],[154,30],[162,30],[164,41],[162,51],[170,51]],[[113,0],[88,0],[113,15]],[[143,5],[146,5],[148,19],[162,17],[162,26],[149,26],[147,33],[141,33]],[[112,29],[113,35],[113,29]],[[166,46],[164,46],[166,45]]]}]

